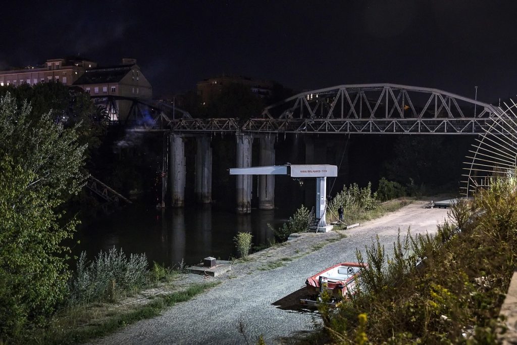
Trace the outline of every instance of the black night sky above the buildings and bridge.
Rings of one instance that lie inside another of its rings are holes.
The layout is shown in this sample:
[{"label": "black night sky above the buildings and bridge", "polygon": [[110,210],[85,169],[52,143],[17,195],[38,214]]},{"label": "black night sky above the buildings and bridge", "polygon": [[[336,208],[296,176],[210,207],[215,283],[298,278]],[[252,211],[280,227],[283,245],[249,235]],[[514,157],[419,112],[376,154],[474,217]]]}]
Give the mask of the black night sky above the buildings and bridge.
[{"label": "black night sky above the buildings and bridge", "polygon": [[513,0],[48,1],[2,4],[0,68],[138,59],[155,96],[217,74],[297,90],[390,82],[517,94]]}]

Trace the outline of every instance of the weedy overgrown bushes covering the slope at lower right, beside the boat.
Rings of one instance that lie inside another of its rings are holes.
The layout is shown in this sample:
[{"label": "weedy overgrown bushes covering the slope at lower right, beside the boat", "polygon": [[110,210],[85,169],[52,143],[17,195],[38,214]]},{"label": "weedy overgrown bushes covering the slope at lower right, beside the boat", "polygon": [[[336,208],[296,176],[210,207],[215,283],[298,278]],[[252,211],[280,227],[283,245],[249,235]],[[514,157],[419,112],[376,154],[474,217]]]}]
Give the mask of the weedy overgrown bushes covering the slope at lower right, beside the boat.
[{"label": "weedy overgrown bushes covering the slope at lower right, beside the boat", "polygon": [[472,205],[460,203],[450,214],[435,236],[399,238],[390,257],[378,242],[364,258],[357,253],[369,264],[361,289],[336,310],[321,308],[331,341],[496,342],[499,308],[517,261],[515,184],[494,180]]}]

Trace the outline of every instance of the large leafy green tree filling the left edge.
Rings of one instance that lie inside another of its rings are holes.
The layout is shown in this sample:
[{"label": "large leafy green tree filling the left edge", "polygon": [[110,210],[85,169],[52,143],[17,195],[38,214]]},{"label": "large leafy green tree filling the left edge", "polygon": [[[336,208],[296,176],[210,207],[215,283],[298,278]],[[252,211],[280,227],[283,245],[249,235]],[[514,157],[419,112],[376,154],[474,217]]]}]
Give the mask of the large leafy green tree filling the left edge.
[{"label": "large leafy green tree filling the left edge", "polygon": [[9,93],[0,98],[0,334],[38,323],[68,293],[62,224],[56,207],[79,191],[86,145],[75,127],[32,116]]}]

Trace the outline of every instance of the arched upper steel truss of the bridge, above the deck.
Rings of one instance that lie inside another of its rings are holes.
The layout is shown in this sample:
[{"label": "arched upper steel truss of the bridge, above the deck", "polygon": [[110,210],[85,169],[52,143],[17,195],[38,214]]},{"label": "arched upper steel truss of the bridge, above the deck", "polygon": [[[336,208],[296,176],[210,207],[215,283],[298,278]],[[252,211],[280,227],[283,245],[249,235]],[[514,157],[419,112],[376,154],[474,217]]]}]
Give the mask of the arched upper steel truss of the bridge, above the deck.
[{"label": "arched upper steel truss of the bridge, above the deck", "polygon": [[[415,103],[415,99],[427,102]],[[474,106],[482,111],[474,114]],[[472,111],[472,115],[466,112]],[[435,88],[398,84],[339,85],[304,92],[264,109],[263,118],[380,119],[490,117],[491,104]]]}]

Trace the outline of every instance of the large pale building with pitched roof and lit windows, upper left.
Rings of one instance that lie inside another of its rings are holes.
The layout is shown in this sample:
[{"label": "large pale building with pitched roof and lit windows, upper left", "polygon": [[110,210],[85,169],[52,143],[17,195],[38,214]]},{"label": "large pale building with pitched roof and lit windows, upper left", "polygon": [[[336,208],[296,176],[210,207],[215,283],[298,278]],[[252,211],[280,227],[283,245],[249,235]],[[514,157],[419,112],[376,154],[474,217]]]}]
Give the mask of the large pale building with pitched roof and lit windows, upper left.
[{"label": "large pale building with pitched roof and lit windows, upper left", "polygon": [[153,87],[142,74],[136,59],[123,58],[122,65],[99,67],[94,61],[80,57],[49,59],[42,66],[0,71],[0,86],[58,82],[82,88],[96,104],[108,109],[112,121],[125,119],[130,100],[109,101],[108,96],[153,98]]}]

